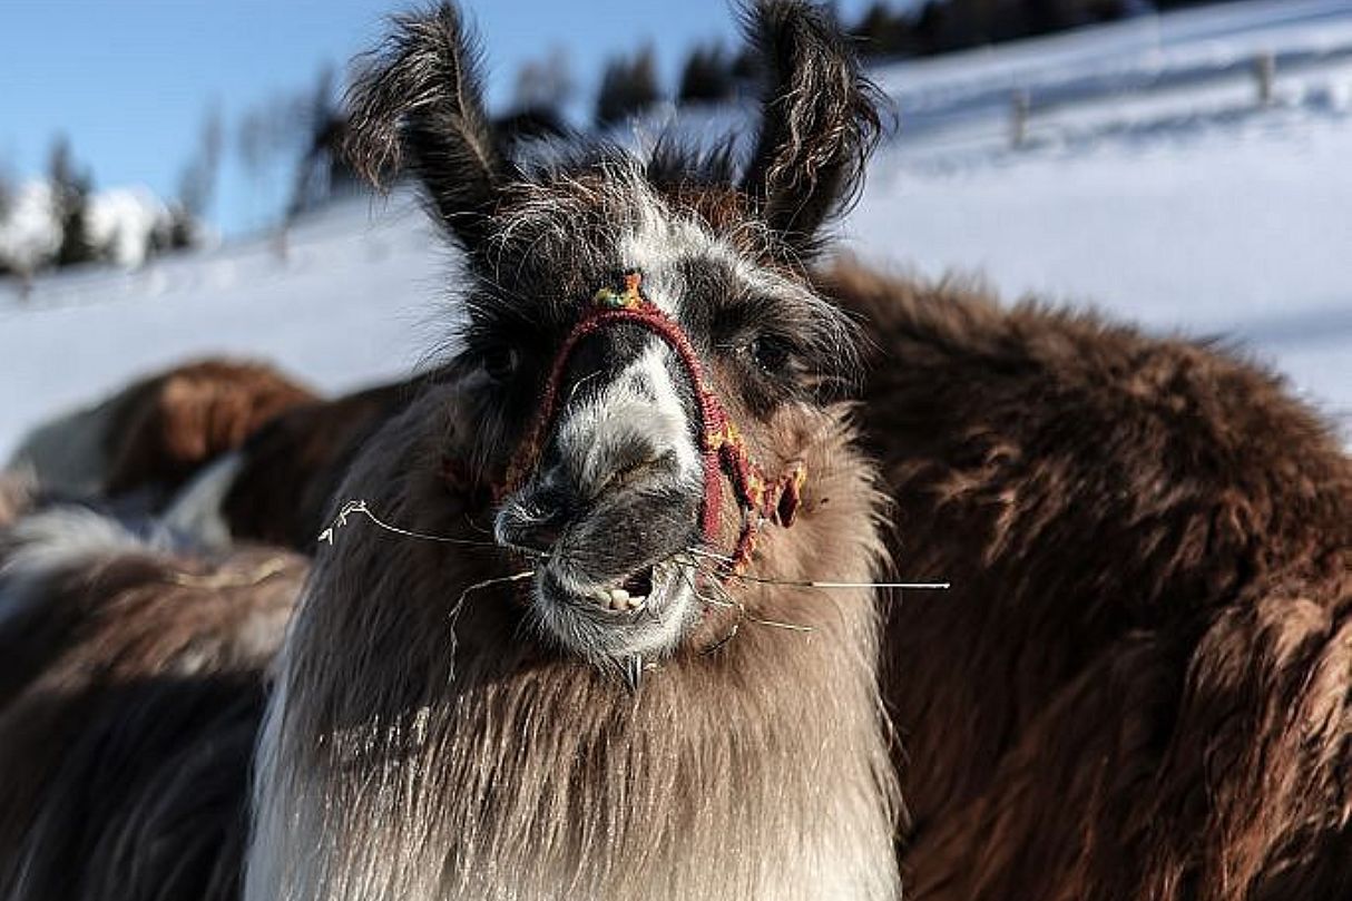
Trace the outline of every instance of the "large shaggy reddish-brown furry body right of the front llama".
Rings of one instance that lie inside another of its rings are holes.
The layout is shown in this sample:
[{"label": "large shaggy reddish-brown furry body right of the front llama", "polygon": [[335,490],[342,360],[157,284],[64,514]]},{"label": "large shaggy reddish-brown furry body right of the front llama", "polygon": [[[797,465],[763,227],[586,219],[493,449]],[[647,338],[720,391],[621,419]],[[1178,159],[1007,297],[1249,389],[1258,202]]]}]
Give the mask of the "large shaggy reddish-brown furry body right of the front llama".
[{"label": "large shaggy reddish-brown furry body right of the front llama", "polygon": [[917,898],[1352,894],[1352,463],[1253,365],[842,264]]}]

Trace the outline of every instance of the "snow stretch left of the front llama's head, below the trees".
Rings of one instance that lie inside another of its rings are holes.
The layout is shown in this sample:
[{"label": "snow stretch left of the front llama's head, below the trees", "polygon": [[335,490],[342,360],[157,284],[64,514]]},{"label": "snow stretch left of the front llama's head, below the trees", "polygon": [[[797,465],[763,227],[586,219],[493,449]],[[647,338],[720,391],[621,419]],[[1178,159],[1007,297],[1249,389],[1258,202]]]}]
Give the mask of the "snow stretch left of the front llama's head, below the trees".
[{"label": "snow stretch left of the front llama's head, below the trees", "polygon": [[261,238],[39,279],[0,299],[0,459],[37,422],[188,359],[273,361],[327,391],[408,375],[445,344],[439,246],[408,204],[372,219],[357,202],[296,227],[284,256]]}]

